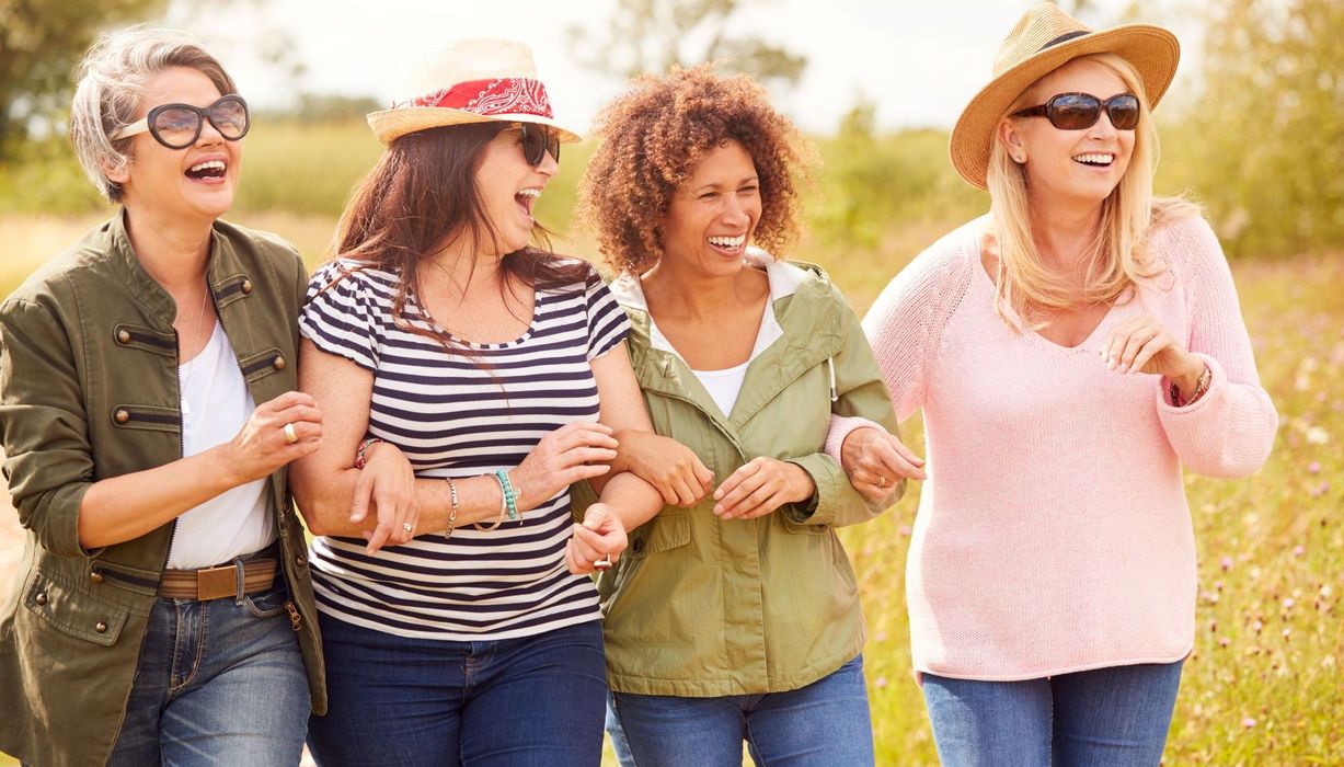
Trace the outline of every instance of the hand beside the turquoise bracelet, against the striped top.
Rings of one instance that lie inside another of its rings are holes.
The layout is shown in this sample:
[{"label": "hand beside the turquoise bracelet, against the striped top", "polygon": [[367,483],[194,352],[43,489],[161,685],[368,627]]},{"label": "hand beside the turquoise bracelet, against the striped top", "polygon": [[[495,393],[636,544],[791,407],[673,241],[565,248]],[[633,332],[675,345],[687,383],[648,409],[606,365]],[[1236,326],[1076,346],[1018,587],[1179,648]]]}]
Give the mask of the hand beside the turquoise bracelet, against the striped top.
[{"label": "hand beside the turquoise bracelet, against the striped top", "polygon": [[542,437],[523,463],[509,471],[519,511],[536,509],[581,479],[612,470],[616,439],[602,424],[574,421]]}]

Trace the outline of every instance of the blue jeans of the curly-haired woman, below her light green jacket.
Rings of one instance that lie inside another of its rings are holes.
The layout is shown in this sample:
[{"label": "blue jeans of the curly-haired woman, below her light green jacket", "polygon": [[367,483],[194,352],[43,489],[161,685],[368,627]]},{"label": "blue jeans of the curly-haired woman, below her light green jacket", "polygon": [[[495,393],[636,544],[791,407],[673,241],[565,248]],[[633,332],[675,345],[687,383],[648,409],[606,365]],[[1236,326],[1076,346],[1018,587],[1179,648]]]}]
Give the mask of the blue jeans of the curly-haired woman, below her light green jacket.
[{"label": "blue jeans of the curly-haired woman, below her light green jacket", "polygon": [[872,766],[863,655],[805,688],[692,698],[612,693],[606,729],[622,767]]}]

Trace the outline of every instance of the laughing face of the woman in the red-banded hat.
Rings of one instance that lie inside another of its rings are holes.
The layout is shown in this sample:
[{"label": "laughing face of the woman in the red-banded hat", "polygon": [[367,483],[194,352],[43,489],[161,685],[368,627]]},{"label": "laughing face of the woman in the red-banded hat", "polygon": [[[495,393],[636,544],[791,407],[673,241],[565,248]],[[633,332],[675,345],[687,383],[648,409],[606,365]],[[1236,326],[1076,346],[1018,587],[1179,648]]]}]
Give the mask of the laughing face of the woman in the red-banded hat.
[{"label": "laughing face of the woman in the red-banded hat", "polygon": [[[523,156],[523,135],[516,128],[500,131],[481,152],[476,170],[476,188],[481,195],[487,219],[495,226],[500,242],[482,242],[491,256],[504,256],[527,248],[536,219],[536,199],[559,166],[550,152],[540,166]],[[495,250],[499,249],[497,253]]]}]

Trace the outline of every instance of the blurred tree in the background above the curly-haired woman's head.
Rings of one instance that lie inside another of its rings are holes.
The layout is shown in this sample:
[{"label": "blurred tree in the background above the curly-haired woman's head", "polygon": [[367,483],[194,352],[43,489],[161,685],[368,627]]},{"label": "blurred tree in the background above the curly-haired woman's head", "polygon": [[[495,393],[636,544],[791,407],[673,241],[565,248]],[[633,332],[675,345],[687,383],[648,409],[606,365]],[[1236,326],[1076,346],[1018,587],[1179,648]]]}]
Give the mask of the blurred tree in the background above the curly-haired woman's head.
[{"label": "blurred tree in the background above the curly-haired woman's head", "polygon": [[808,59],[753,34],[728,32],[751,0],[618,0],[606,34],[570,28],[575,58],[629,78],[719,62],[761,81],[796,85]]}]

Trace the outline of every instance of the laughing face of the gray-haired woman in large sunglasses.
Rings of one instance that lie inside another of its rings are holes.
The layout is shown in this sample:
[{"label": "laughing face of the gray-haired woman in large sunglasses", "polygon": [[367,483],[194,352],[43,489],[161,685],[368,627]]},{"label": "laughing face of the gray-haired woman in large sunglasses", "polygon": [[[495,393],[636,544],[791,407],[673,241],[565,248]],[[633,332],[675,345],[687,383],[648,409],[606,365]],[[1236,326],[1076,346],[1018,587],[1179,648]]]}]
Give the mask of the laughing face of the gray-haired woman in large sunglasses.
[{"label": "laughing face of the gray-haired woman in large sunglasses", "polygon": [[[137,118],[161,104],[207,108],[222,94],[202,71],[169,67],[151,78]],[[130,161],[108,178],[120,183],[128,209],[152,210],[183,221],[212,222],[233,207],[242,141],[228,141],[208,120],[200,136],[184,149],[169,149],[148,132],[132,137]]]}]

